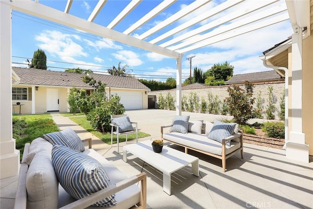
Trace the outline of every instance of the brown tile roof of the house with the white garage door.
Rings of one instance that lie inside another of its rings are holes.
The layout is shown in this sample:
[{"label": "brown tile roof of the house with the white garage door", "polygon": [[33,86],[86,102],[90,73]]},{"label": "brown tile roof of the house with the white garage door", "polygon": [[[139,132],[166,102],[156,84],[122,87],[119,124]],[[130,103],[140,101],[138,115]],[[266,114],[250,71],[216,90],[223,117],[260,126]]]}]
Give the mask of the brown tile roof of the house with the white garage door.
[{"label": "brown tile roof of the house with the white garage door", "polygon": [[[19,76],[20,84],[36,86],[60,86],[90,88],[82,81],[82,74],[64,71],[39,70],[29,68],[12,67],[12,70]],[[112,76],[97,73],[89,73],[96,81],[107,84],[107,87],[150,90],[136,78]]]}]

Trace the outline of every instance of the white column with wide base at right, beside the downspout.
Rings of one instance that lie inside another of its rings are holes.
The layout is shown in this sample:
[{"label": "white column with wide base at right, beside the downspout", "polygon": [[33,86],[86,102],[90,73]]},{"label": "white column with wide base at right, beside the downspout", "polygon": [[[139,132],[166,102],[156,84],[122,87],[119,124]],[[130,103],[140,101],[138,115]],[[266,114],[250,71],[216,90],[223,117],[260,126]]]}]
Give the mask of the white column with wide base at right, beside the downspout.
[{"label": "white column with wide base at right, beside the downspout", "polygon": [[291,80],[291,122],[292,128],[286,143],[286,157],[309,163],[309,145],[302,133],[302,28],[292,25],[292,80]]}]

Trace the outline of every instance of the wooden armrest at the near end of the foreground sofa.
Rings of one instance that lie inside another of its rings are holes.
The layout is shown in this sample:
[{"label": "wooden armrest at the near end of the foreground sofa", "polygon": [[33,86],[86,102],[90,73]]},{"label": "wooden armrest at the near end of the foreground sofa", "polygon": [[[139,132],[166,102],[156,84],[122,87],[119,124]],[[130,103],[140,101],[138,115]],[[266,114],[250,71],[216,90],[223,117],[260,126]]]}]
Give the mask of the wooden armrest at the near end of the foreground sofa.
[{"label": "wooden armrest at the near end of the foreground sofa", "polygon": [[123,190],[129,186],[136,184],[137,182],[141,182],[140,189],[140,206],[137,209],[146,209],[147,208],[147,174],[145,172],[139,173],[136,176],[129,177],[123,181],[116,183],[115,185],[111,185],[105,189],[97,191],[87,197],[76,200],[61,209],[82,209],[91,206],[92,204],[102,200],[105,197],[108,197],[118,191]]}]

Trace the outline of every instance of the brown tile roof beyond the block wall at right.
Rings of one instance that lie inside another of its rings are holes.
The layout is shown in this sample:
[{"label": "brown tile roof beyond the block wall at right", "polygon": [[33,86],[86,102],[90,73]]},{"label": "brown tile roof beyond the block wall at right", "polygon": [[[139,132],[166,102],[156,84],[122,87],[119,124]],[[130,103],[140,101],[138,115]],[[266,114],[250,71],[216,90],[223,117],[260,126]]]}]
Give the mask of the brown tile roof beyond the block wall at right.
[{"label": "brown tile roof beyond the block wall at right", "polygon": [[275,70],[264,72],[252,72],[246,74],[237,74],[230,78],[225,84],[244,83],[249,82],[264,82],[264,81],[277,81],[284,80]]}]

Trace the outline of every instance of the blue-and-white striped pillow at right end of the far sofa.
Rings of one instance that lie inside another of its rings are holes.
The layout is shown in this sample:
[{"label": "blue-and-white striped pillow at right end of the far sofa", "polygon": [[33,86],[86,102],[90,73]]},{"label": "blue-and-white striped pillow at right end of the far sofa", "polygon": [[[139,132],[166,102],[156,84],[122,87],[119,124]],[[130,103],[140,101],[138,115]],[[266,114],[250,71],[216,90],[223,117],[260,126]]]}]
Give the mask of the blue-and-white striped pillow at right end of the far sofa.
[{"label": "blue-and-white striped pillow at right end of the far sofa", "polygon": [[[214,120],[213,127],[207,136],[222,143],[222,140],[232,135],[237,123],[224,123],[219,120]],[[230,146],[230,142],[226,141],[225,145]]]}]

